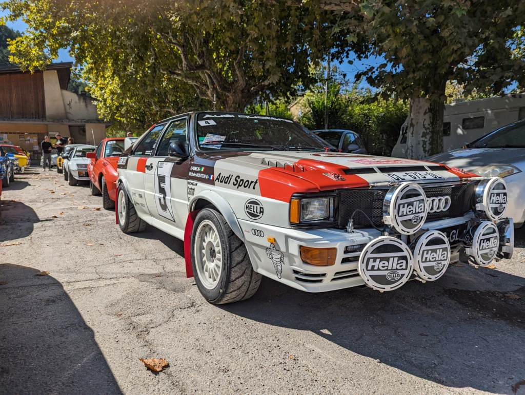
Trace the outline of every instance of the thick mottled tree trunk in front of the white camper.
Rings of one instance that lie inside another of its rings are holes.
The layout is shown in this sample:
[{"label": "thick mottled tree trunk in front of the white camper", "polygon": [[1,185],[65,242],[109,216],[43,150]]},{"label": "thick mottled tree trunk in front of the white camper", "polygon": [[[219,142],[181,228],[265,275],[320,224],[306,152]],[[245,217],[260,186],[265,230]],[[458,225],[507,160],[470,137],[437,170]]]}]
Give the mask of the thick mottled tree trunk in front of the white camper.
[{"label": "thick mottled tree trunk in front of the white camper", "polygon": [[406,154],[411,159],[422,159],[443,152],[443,111],[440,99],[410,99],[407,125]]}]

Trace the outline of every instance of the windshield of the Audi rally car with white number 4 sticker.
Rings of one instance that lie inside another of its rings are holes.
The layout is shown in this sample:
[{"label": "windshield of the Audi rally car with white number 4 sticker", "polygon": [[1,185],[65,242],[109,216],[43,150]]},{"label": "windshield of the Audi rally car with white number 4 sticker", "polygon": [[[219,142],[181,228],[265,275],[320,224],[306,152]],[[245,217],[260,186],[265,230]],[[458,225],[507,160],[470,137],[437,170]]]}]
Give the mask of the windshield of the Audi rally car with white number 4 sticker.
[{"label": "windshield of the Audi rally car with white number 4 sticker", "polygon": [[326,145],[293,121],[265,115],[200,113],[196,132],[202,151],[324,151]]}]

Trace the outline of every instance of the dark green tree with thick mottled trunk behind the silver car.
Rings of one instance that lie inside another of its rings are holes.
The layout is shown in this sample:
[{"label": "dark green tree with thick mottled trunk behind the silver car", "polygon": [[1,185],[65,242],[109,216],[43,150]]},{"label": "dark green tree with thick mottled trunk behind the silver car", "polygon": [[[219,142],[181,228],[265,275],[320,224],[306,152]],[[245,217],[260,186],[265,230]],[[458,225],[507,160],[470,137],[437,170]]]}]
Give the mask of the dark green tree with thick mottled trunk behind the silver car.
[{"label": "dark green tree with thick mottled trunk behind the silver car", "polygon": [[359,57],[384,57],[360,76],[381,87],[385,97],[409,101],[409,157],[443,150],[447,81],[463,85],[467,95],[475,89],[499,93],[513,80],[525,82],[525,62],[516,56],[525,2],[364,0],[324,6],[340,13],[339,29],[348,33],[337,54],[353,49]]}]

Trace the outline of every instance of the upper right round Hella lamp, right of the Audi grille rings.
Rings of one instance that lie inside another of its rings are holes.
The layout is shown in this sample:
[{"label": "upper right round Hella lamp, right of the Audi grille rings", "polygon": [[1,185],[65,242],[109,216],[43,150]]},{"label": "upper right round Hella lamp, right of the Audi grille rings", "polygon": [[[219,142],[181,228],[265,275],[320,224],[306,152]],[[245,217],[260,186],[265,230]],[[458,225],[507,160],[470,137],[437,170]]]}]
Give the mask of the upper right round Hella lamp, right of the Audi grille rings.
[{"label": "upper right round Hella lamp, right of the Audi grille rings", "polygon": [[507,201],[507,184],[502,178],[481,180],[476,187],[476,210],[492,221],[503,217]]}]

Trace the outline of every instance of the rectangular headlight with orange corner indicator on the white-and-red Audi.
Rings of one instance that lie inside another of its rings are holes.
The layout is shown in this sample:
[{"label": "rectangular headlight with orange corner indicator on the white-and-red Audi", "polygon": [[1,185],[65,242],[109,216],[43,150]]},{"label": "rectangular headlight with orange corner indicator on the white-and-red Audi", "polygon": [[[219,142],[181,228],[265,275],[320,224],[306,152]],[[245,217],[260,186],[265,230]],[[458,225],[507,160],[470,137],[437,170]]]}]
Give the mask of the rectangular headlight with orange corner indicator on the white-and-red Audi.
[{"label": "rectangular headlight with orange corner indicator on the white-and-red Audi", "polygon": [[290,201],[292,225],[320,225],[334,220],[335,195],[318,197],[293,196]]}]

